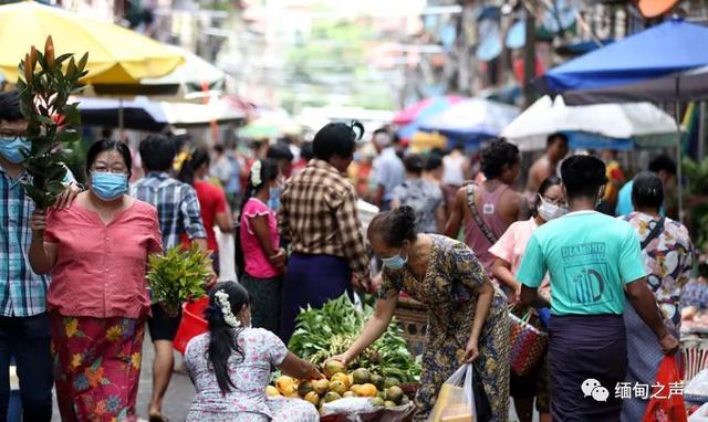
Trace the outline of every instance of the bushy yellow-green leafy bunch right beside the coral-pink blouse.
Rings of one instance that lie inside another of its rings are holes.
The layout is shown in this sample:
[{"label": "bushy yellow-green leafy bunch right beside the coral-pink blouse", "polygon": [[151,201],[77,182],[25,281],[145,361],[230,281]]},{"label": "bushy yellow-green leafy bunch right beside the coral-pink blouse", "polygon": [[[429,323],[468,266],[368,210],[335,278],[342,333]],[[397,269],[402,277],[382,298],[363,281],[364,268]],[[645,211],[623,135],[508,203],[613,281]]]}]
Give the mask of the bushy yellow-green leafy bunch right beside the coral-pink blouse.
[{"label": "bushy yellow-green leafy bunch right beside the coral-pink blouse", "polygon": [[210,266],[209,256],[197,245],[188,250],[175,246],[164,255],[152,255],[147,283],[153,291],[153,300],[162,303],[166,312],[176,314],[183,302],[206,295],[204,283],[209,277]]}]

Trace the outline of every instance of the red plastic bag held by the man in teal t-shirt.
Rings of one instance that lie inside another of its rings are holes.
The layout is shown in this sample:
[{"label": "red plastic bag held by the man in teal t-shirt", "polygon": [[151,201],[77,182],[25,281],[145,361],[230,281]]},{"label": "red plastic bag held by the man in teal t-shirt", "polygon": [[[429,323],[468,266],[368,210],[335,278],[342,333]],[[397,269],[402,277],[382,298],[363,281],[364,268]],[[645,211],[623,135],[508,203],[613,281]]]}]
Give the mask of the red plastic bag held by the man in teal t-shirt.
[{"label": "red plastic bag held by the man in teal t-shirt", "polygon": [[654,390],[654,394],[646,407],[644,422],[687,422],[686,404],[680,394],[670,394],[670,386],[681,382],[681,376],[676,365],[676,357],[666,356],[656,372],[655,384],[663,386],[663,391]]}]

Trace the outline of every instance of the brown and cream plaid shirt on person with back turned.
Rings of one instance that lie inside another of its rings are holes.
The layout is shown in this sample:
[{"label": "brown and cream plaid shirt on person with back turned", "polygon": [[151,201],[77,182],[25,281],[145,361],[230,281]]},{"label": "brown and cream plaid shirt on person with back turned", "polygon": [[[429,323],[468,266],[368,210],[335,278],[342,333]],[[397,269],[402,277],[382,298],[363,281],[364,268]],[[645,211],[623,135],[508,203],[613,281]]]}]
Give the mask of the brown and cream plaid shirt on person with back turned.
[{"label": "brown and cream plaid shirt on person with back turned", "polygon": [[311,160],[285,183],[280,202],[280,235],[293,252],[344,257],[356,274],[368,270],[356,192],[333,166]]}]

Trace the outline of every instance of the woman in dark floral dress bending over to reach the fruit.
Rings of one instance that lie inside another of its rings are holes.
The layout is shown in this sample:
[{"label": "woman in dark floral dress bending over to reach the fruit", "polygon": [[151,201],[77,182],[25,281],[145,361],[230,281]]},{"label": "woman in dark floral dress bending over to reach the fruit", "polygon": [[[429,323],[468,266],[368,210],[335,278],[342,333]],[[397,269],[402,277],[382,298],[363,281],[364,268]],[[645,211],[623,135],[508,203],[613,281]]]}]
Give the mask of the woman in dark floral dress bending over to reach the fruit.
[{"label": "woman in dark floral dress bending over to reach the fruit", "polygon": [[383,286],[372,318],[352,347],[333,359],[348,363],[386,330],[398,293],[428,307],[421,387],[415,421],[427,420],[440,386],[473,362],[491,405],[491,421],[509,413],[509,320],[506,297],[464,243],[416,234],[415,211],[400,207],[371,222],[368,240],[384,263]]}]

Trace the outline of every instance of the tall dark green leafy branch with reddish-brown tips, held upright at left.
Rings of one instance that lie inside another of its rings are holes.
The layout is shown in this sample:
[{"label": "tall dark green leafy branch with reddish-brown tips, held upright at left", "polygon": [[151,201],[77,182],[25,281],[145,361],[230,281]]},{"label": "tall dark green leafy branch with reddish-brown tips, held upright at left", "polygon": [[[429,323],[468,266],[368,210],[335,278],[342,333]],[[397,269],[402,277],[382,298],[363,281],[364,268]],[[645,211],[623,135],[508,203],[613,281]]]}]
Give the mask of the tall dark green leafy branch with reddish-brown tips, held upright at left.
[{"label": "tall dark green leafy branch with reddish-brown tips, held upright at left", "polygon": [[88,53],[79,62],[73,54],[55,57],[49,36],[43,53],[32,46],[20,62],[20,74],[24,75],[18,78],[20,110],[29,122],[31,143],[29,151],[22,150],[22,166],[32,176],[24,189],[39,209],[48,208],[65,189],[63,162],[71,151],[64,146],[80,139],[76,127],[81,125],[79,103],[69,104],[69,99],[82,91],[79,81],[88,73],[87,61]]}]

